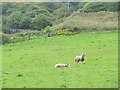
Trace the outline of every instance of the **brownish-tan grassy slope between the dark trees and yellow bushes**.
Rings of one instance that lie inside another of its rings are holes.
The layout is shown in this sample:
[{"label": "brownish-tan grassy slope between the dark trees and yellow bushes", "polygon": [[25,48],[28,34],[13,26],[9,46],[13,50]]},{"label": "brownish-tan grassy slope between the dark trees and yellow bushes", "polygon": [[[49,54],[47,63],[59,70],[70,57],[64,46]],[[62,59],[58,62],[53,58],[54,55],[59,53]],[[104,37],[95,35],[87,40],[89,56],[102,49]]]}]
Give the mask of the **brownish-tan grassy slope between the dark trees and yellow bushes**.
[{"label": "brownish-tan grassy slope between the dark trees and yellow bushes", "polygon": [[118,27],[118,13],[115,12],[94,12],[94,13],[73,13],[62,22],[55,24],[53,28],[74,26],[77,28],[85,27],[96,30],[112,30]]}]

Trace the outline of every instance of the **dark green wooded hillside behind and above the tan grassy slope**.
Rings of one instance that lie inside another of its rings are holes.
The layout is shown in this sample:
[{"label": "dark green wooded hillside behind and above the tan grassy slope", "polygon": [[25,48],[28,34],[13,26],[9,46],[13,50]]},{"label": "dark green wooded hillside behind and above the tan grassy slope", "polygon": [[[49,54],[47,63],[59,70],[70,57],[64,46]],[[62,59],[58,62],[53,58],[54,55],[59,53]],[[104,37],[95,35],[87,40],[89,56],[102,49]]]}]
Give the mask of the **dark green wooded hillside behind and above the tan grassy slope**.
[{"label": "dark green wooded hillside behind and above the tan grassy slope", "polygon": [[40,31],[46,26],[53,26],[61,19],[69,17],[72,13],[74,15],[74,12],[116,12],[117,6],[118,4],[114,2],[4,2],[2,3],[2,31],[4,33],[9,33],[10,29]]}]

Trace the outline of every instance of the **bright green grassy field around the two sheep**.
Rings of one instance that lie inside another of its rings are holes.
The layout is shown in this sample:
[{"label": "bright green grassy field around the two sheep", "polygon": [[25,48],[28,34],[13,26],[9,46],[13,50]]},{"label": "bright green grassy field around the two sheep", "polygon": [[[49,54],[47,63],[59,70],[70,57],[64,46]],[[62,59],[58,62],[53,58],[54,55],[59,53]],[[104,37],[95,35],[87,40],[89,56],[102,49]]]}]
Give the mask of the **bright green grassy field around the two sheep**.
[{"label": "bright green grassy field around the two sheep", "polygon": [[[117,88],[117,32],[80,33],[6,44],[3,88]],[[86,52],[85,63],[74,57]],[[55,68],[69,63],[70,68]]]}]

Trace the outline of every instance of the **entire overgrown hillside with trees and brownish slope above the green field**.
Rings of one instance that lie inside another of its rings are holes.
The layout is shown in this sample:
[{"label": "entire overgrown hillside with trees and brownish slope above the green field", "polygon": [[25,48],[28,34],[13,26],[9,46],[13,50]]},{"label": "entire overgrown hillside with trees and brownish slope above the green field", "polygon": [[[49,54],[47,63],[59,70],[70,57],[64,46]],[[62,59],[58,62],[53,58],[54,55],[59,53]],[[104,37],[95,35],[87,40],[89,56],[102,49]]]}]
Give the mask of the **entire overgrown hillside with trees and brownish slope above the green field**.
[{"label": "entire overgrown hillside with trees and brownish slope above the green field", "polygon": [[4,2],[3,43],[81,31],[117,30],[117,5],[114,2]]}]

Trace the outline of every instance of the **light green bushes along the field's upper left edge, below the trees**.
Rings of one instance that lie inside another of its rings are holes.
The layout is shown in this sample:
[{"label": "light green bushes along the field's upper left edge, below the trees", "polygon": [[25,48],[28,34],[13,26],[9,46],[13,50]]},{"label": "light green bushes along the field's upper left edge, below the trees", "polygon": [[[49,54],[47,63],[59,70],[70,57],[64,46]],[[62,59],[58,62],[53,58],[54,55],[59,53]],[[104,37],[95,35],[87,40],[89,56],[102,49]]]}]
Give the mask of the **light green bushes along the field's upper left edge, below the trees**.
[{"label": "light green bushes along the field's upper left edge, below the trees", "polygon": [[20,41],[27,41],[30,39],[39,38],[42,36],[44,32],[40,31],[24,31],[20,33],[14,33],[14,34],[2,34],[3,44],[13,43],[13,42],[20,42]]}]

